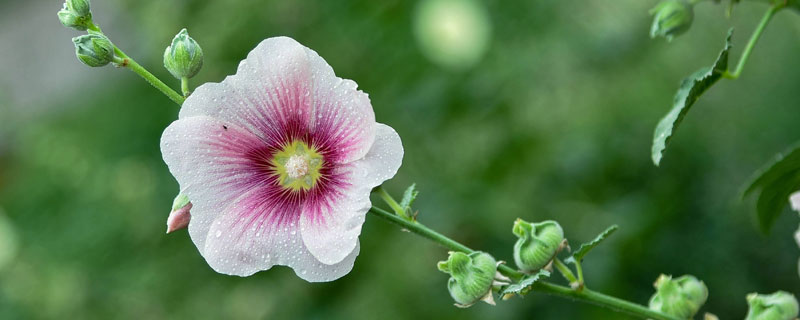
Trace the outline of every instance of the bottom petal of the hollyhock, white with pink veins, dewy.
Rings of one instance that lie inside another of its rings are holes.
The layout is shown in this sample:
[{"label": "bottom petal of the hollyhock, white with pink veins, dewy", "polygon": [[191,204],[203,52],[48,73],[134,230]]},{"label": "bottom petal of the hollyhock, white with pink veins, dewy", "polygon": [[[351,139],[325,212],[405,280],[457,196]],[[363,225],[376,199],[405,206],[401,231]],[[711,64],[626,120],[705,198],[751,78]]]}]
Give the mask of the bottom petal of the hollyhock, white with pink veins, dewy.
[{"label": "bottom petal of the hollyhock, white with pink veins, dewy", "polygon": [[237,276],[285,265],[312,282],[335,280],[350,272],[358,244],[338,263],[323,264],[303,246],[297,224],[269,221],[276,210],[281,208],[260,197],[257,190],[232,202],[206,235],[201,251],[208,264],[219,273]]}]

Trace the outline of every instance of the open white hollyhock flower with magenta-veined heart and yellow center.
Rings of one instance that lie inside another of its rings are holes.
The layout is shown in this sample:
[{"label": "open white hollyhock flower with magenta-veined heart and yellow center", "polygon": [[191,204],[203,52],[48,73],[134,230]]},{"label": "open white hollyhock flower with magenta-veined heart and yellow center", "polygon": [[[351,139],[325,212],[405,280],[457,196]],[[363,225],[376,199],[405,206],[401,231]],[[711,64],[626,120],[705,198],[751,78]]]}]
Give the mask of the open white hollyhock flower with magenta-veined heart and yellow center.
[{"label": "open white hollyhock flower with magenta-veined heart and yellow center", "polygon": [[235,75],[198,87],[161,152],[214,270],[248,276],[285,265],[307,281],[350,272],[370,191],[403,157],[367,94],[286,37],[262,41]]}]

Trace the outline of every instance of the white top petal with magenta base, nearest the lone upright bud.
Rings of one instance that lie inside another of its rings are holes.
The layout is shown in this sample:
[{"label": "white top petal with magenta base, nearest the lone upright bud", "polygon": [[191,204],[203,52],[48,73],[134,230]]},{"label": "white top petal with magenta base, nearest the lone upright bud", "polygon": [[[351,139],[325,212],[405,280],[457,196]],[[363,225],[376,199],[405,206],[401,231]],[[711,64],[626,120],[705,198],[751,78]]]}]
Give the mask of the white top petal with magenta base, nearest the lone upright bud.
[{"label": "white top petal with magenta base, nearest the lone upright bud", "polygon": [[210,116],[268,143],[285,143],[307,131],[312,85],[305,47],[291,38],[269,38],[250,51],[235,75],[199,86],[179,118]]}]

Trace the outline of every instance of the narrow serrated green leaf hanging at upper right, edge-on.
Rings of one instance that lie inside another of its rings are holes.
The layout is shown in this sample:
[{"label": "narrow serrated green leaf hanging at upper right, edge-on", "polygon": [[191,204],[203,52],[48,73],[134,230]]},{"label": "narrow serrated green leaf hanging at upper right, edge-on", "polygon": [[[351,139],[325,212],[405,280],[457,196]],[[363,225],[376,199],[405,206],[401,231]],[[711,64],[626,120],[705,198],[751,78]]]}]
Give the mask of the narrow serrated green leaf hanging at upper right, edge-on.
[{"label": "narrow serrated green leaf hanging at upper right, edge-on", "polygon": [[672,110],[658,122],[653,133],[652,154],[653,163],[659,165],[664,156],[664,150],[669,144],[670,138],[675,130],[686,117],[686,113],[697,102],[697,99],[714,85],[722,75],[728,70],[728,53],[731,50],[731,35],[733,29],[728,31],[728,38],[725,40],[725,48],[719,53],[717,61],[711,67],[706,67],[695,72],[681,82],[678,92],[672,102]]}]

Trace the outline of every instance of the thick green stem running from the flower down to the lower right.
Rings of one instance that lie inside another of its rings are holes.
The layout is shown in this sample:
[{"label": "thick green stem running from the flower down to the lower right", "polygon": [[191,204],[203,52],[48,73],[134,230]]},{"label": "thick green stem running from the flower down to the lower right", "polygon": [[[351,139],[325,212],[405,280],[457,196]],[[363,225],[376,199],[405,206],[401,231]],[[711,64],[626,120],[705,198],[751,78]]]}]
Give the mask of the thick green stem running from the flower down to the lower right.
[{"label": "thick green stem running from the flower down to the lower right", "polygon": [[[472,253],[474,250],[470,249],[469,247],[455,241],[453,239],[448,238],[447,236],[438,233],[423,224],[416,222],[416,221],[409,221],[399,217],[396,214],[388,212],[378,207],[372,207],[369,210],[370,213],[387,220],[391,223],[394,223],[403,229],[406,229],[410,232],[418,234],[423,238],[436,242],[447,249],[453,251],[461,251],[465,253]],[[522,272],[514,270],[506,265],[500,265],[498,267],[498,271],[503,275],[513,279],[519,280],[524,276]],[[583,289],[581,291],[573,290],[572,288],[545,282],[545,281],[538,281],[534,284],[533,289],[535,291],[546,293],[554,296],[564,297],[575,301],[581,301],[586,303],[595,304],[601,307],[605,307],[611,310],[615,310],[618,312],[626,313],[634,317],[638,317],[641,319],[656,319],[656,320],[679,320],[676,317],[663,314],[661,312],[653,311],[648,309],[645,306],[635,304],[632,302],[628,302],[625,300],[621,300],[612,296],[608,296],[599,292],[591,291],[589,289]]]}]

